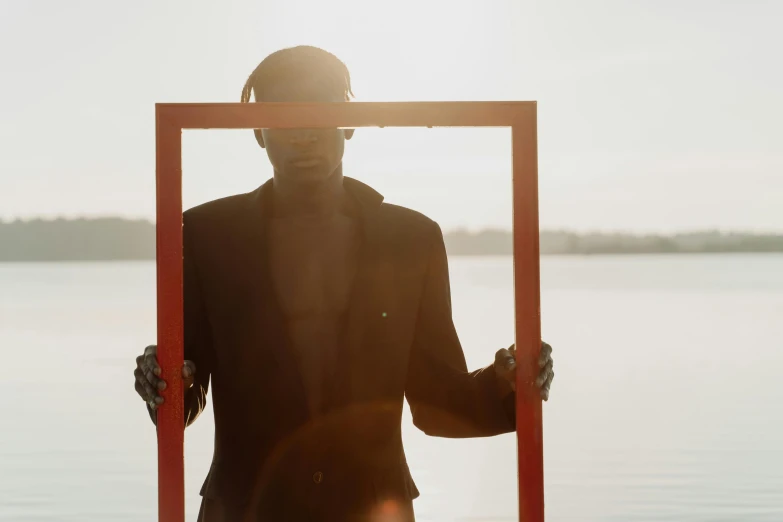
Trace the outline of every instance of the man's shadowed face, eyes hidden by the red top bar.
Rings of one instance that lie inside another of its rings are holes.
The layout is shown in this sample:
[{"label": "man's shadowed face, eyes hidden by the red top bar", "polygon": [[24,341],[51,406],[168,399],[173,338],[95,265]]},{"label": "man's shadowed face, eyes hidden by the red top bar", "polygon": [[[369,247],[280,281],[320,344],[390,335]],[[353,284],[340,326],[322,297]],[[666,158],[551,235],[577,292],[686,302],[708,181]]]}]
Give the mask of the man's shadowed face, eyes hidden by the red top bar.
[{"label": "man's shadowed face, eyes hidden by the red top bar", "polygon": [[[344,93],[329,92],[318,79],[279,82],[267,86],[263,101],[344,102]],[[276,176],[303,184],[320,183],[340,166],[345,140],[352,131],[343,129],[263,129],[256,132],[266,149]]]}]

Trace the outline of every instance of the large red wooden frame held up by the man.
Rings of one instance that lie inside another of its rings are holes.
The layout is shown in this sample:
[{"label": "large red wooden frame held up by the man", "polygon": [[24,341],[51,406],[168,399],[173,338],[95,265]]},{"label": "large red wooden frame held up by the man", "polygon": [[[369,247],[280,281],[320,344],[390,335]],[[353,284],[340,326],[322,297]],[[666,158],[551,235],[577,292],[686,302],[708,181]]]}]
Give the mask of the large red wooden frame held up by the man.
[{"label": "large red wooden frame held up by the man", "polygon": [[511,127],[519,518],[544,520],[538,157],[535,102],[217,103],[156,105],[158,358],[169,383],[158,412],[161,522],[184,522],[182,129]]}]

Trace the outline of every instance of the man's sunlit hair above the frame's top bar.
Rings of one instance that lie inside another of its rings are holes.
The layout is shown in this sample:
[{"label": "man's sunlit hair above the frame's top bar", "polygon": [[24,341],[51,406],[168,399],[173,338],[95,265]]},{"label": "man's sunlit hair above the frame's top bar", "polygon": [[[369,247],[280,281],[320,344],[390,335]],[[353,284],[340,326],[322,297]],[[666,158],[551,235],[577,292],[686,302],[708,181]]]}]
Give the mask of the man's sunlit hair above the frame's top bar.
[{"label": "man's sunlit hair above the frame's top bar", "polygon": [[263,100],[264,89],[272,81],[295,80],[312,75],[322,79],[325,89],[342,91],[345,101],[353,97],[351,75],[339,58],[318,47],[300,45],[281,49],[264,58],[245,82],[241,102],[248,103],[251,93],[255,94],[256,101]]}]

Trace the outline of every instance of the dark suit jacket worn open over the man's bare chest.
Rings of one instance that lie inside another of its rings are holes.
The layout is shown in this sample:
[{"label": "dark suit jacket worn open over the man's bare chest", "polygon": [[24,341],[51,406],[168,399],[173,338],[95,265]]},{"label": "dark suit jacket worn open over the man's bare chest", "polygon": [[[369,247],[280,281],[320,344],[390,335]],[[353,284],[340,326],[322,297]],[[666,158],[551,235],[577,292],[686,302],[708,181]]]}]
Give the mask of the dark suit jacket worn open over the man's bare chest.
[{"label": "dark suit jacket worn open over the man's bare chest", "polygon": [[185,358],[196,365],[185,416],[190,424],[203,410],[211,381],[215,450],[201,495],[232,520],[348,520],[386,501],[410,510],[419,492],[402,447],[403,398],[430,435],[514,430],[513,395],[501,400],[493,368],[466,367],[438,225],[344,183],[363,244],[337,378],[318,417],[268,269],[271,180],[184,214]]}]

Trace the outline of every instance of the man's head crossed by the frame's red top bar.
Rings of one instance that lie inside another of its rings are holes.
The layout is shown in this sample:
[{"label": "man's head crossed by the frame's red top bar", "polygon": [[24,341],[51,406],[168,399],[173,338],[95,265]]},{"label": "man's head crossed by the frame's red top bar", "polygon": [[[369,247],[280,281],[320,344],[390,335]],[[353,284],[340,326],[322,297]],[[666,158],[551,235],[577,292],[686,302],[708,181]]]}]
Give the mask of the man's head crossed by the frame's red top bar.
[{"label": "man's head crossed by the frame's red top bar", "polygon": [[[351,99],[348,68],[336,56],[317,47],[282,49],[267,56],[242,89],[262,102],[345,102]],[[261,129],[258,144],[266,149],[276,178],[313,184],[331,177],[342,164],[345,140],[353,130]]]}]

